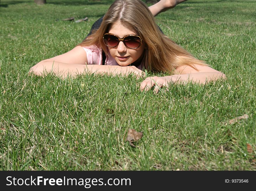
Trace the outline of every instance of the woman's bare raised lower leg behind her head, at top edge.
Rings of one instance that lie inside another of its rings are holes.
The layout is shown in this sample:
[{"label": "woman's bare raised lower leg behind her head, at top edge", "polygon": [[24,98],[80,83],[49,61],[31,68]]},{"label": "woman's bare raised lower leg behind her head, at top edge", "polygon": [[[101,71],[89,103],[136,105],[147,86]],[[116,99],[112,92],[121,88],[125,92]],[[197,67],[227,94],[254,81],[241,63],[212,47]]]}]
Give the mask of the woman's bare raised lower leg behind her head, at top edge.
[{"label": "woman's bare raised lower leg behind her head, at top edge", "polygon": [[161,0],[157,2],[156,4],[149,7],[152,15],[155,17],[159,13],[162,13],[168,9],[174,8],[177,4],[182,3],[186,0]]}]

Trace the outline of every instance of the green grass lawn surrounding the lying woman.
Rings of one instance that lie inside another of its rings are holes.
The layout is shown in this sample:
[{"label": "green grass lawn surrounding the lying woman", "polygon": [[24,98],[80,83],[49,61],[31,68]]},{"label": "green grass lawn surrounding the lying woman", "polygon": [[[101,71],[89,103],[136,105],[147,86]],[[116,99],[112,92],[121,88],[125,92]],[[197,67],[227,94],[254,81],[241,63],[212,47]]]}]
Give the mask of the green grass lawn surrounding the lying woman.
[{"label": "green grass lawn surrounding the lying woman", "polygon": [[[133,76],[28,75],[81,42],[113,1],[47,2],[1,1],[1,170],[256,169],[256,1],[189,0],[158,15],[166,35],[227,76],[158,94]],[[136,148],[128,128],[144,133]]]}]

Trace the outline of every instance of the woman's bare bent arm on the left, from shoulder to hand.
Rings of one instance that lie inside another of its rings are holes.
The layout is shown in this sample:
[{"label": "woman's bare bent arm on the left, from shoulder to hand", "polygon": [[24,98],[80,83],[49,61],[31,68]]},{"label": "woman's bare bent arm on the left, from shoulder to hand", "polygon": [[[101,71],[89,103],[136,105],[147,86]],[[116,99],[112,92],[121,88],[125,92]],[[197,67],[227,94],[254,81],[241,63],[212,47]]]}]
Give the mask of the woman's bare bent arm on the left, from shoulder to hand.
[{"label": "woman's bare bent arm on the left, from shoulder to hand", "polygon": [[97,73],[97,74],[121,74],[128,75],[134,73],[138,76],[143,75],[144,72],[136,67],[121,67],[110,65],[87,65],[86,52],[82,47],[77,46],[71,51],[50,59],[42,60],[35,66],[31,67],[30,72],[36,75],[42,75],[44,72],[47,74],[53,72],[54,74],[66,77],[76,76],[82,73]]}]

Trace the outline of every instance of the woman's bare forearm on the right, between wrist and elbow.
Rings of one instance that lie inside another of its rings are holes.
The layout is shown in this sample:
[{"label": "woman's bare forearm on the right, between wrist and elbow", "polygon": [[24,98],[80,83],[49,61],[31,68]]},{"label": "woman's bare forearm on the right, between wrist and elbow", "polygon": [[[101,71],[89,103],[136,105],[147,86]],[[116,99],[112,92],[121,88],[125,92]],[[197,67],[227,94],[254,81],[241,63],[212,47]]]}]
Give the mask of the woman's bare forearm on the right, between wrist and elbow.
[{"label": "woman's bare forearm on the right, between wrist and elbow", "polygon": [[215,81],[220,78],[226,78],[225,74],[221,72],[198,72],[191,74],[176,74],[171,76],[166,76],[168,81],[172,83],[184,83],[184,82],[196,82],[196,83],[207,83],[209,81]]}]

